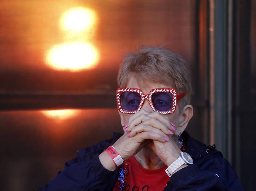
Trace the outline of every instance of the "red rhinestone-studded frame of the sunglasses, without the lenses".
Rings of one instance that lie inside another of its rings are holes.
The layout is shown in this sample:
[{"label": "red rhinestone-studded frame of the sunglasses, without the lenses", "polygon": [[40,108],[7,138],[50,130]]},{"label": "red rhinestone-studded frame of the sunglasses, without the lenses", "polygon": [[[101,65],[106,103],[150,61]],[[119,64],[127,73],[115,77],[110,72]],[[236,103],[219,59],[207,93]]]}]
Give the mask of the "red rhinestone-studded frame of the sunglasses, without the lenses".
[{"label": "red rhinestone-studded frame of the sunglasses, without the lenses", "polygon": [[[122,92],[135,92],[135,93],[140,94],[140,105],[139,105],[137,110],[135,110],[135,111],[126,111],[122,108],[121,98],[120,98]],[[169,111],[158,111],[158,110],[156,110],[156,108],[153,105],[151,96],[154,93],[159,93],[159,92],[169,92],[169,93],[172,94],[173,99],[172,99],[172,108],[171,108],[171,110],[169,110]],[[148,95],[145,95],[145,94],[143,94],[142,90],[139,89],[139,88],[117,88],[116,89],[117,109],[122,113],[128,113],[128,114],[136,113],[136,112],[140,111],[145,99],[148,99],[148,102],[149,102],[151,108],[153,109],[153,111],[157,111],[160,114],[170,114],[170,113],[173,113],[176,110],[177,100],[186,95],[186,92],[184,92],[184,93],[176,96],[176,94],[177,94],[176,92],[177,92],[176,89],[173,89],[173,88],[155,88],[155,89],[151,89],[149,91]]]}]

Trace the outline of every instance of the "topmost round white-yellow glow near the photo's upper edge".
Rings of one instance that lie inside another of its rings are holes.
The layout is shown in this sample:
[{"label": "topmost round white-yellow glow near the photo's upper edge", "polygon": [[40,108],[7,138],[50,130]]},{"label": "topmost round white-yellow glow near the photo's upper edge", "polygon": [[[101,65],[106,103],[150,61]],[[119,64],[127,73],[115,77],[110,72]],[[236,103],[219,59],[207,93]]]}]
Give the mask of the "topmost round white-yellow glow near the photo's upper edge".
[{"label": "topmost round white-yellow glow near the photo's upper edge", "polygon": [[75,8],[66,11],[60,19],[60,25],[65,30],[81,32],[95,24],[95,11],[86,8]]}]

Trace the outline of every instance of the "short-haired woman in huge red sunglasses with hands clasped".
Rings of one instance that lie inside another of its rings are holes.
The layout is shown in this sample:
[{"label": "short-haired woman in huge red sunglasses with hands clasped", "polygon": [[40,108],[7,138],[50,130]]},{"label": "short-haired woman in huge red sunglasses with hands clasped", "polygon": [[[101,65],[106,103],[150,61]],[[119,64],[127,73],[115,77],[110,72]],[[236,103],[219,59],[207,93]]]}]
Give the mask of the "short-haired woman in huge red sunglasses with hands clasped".
[{"label": "short-haired woman in huge red sunglasses with hands clasped", "polygon": [[124,134],[79,150],[40,190],[243,190],[215,145],[185,131],[193,107],[180,56],[142,47],[124,59],[117,83]]}]

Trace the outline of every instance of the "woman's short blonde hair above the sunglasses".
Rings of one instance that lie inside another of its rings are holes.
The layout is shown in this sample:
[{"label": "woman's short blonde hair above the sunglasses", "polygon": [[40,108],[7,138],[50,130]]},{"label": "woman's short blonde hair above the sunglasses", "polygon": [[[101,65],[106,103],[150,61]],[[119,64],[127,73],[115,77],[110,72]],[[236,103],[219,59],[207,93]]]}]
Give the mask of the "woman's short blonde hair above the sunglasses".
[{"label": "woman's short blonde hair above the sunglasses", "polygon": [[175,88],[178,94],[187,92],[178,101],[180,111],[190,104],[191,74],[187,62],[178,54],[161,47],[142,46],[123,60],[117,75],[118,87],[126,87],[132,75],[138,82],[172,84],[174,87],[170,88]]}]

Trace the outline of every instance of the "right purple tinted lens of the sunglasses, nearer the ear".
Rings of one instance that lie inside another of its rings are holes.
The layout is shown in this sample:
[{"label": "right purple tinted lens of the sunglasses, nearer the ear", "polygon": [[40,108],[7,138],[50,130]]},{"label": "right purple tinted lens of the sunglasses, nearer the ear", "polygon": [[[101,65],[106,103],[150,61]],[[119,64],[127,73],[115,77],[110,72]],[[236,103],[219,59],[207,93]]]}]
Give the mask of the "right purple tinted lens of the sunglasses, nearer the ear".
[{"label": "right purple tinted lens of the sunglasses, nearer the ear", "polygon": [[152,102],[156,110],[170,111],[172,109],[172,94],[169,92],[154,93]]}]

